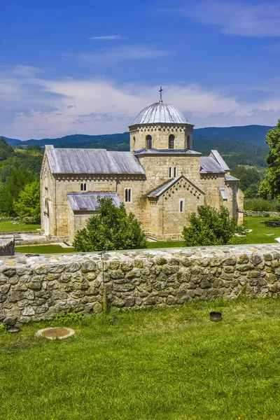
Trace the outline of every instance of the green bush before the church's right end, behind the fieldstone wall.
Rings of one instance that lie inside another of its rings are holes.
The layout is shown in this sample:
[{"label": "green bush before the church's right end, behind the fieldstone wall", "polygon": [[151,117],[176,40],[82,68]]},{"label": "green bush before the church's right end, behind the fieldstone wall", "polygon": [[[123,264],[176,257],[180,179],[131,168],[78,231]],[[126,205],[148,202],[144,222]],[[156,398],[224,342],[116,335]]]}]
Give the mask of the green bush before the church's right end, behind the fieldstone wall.
[{"label": "green bush before the church's right end, behind the fieldstone wall", "polygon": [[234,239],[235,233],[244,235],[242,226],[237,225],[235,218],[230,218],[230,213],[225,207],[217,210],[215,207],[199,206],[197,214],[188,217],[190,226],[183,228],[183,237],[186,246],[226,245]]}]

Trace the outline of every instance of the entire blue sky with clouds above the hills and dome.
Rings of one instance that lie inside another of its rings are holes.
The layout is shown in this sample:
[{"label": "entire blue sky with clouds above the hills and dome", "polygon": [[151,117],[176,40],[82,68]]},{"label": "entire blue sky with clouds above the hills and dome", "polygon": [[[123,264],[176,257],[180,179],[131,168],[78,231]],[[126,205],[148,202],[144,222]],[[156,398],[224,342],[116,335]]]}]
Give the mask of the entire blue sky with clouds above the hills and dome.
[{"label": "entire blue sky with clouds above the hills and dome", "polygon": [[280,1],[1,3],[0,134],[124,132],[163,99],[196,127],[280,118]]}]

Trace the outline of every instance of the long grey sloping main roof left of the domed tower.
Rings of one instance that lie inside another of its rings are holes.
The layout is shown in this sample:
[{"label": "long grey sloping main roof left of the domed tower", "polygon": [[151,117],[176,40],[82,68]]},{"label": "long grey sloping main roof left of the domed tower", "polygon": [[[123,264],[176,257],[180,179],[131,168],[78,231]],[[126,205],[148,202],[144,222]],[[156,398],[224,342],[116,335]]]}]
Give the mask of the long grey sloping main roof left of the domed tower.
[{"label": "long grey sloping main roof left of the domed tower", "polygon": [[145,174],[132,152],[45,146],[52,174]]}]

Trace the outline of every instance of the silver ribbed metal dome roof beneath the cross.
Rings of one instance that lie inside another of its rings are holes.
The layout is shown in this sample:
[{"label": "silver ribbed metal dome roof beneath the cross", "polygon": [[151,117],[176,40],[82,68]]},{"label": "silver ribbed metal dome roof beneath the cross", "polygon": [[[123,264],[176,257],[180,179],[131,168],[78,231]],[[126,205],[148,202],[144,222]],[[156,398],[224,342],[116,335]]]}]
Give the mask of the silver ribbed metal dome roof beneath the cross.
[{"label": "silver ribbed metal dome roof beneath the cross", "polygon": [[142,109],[132,125],[153,123],[188,124],[188,120],[173,105],[155,102]]}]

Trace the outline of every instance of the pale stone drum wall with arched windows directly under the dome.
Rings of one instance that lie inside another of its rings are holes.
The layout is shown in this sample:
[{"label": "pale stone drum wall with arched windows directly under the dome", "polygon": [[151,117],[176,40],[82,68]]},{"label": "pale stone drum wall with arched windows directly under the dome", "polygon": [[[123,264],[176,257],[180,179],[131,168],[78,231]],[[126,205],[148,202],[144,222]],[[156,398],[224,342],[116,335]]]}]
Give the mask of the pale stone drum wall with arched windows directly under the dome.
[{"label": "pale stone drum wall with arched windows directly under the dome", "polygon": [[193,148],[193,125],[145,125],[130,130],[130,151],[146,148],[146,137],[152,137],[152,147],[169,148],[169,135],[173,134],[174,149]]}]

